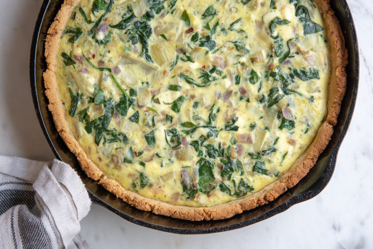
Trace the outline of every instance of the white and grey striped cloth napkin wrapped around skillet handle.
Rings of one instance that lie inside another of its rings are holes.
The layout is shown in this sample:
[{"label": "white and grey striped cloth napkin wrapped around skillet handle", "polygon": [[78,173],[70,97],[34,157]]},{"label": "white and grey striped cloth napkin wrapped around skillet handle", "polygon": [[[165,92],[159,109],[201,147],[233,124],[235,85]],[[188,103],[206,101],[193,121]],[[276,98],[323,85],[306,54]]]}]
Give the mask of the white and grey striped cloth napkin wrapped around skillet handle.
[{"label": "white and grey striped cloth napkin wrapped around skillet handle", "polygon": [[68,164],[0,156],[1,249],[90,249],[78,234],[90,206]]}]

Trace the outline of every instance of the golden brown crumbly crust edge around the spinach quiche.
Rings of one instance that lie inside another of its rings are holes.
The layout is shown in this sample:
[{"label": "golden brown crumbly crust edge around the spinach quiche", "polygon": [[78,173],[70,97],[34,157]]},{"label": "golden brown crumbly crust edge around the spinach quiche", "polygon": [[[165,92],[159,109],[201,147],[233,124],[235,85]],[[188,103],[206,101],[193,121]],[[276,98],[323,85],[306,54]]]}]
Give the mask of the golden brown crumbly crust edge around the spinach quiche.
[{"label": "golden brown crumbly crust edge around the spinach quiche", "polygon": [[58,133],[65,141],[68,148],[75,154],[87,176],[94,180],[99,180],[99,184],[106,190],[130,205],[140,210],[152,211],[156,214],[186,220],[217,220],[229,218],[245,210],[254,209],[259,205],[267,204],[285,193],[288,188],[294,187],[305,177],[313,165],[315,165],[319,155],[330,141],[333,134],[333,125],[337,124],[340,104],[346,89],[345,66],[347,65],[347,50],[344,46],[344,37],[339,26],[339,21],[330,8],[329,1],[314,0],[319,6],[324,18],[325,34],[329,36],[330,57],[332,58],[328,89],[328,110],[325,121],[318,130],[314,141],[308,146],[304,154],[294,162],[286,174],[251,196],[208,208],[176,206],[149,199],[124,189],[117,181],[104,176],[99,167],[87,157],[83,148],[76,141],[68,127],[64,116],[64,108],[59,98],[56,79],[58,44],[63,29],[68,22],[70,13],[79,1],[80,0],[65,0],[48,31],[45,42],[45,56],[48,69],[44,73],[45,94],[50,102],[48,107],[52,113]]}]

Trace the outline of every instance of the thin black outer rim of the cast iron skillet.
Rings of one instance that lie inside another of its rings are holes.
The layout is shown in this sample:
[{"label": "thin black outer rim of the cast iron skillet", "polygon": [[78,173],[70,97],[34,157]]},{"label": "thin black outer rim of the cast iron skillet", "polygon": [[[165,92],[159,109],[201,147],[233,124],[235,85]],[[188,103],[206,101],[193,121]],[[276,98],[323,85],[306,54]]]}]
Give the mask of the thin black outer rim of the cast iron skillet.
[{"label": "thin black outer rim of the cast iron skillet", "polygon": [[[43,120],[43,116],[42,116],[40,105],[39,105],[39,99],[38,99],[38,96],[37,96],[37,88],[36,88],[36,58],[37,58],[37,52],[38,52],[37,51],[37,44],[38,44],[38,41],[40,39],[40,35],[41,35],[40,32],[41,32],[42,25],[46,22],[46,20],[44,19],[45,14],[46,14],[48,6],[50,5],[51,2],[52,2],[52,0],[44,0],[43,1],[40,12],[39,12],[39,15],[38,15],[38,18],[37,18],[37,21],[36,21],[36,24],[35,24],[34,35],[33,35],[32,46],[31,46],[31,53],[30,53],[30,83],[31,83],[31,92],[32,92],[34,108],[35,108],[35,112],[36,112],[36,116],[38,118],[39,124],[40,124],[40,126],[43,130],[44,136],[46,137],[48,144],[50,145],[50,147],[53,151],[53,154],[55,155],[55,157],[58,160],[62,160],[60,155],[58,154],[56,148],[54,147],[54,144],[53,144],[53,142],[51,140],[51,137],[48,133],[48,129],[47,129],[47,127],[45,125],[45,122]],[[242,228],[242,227],[245,227],[245,226],[252,225],[256,222],[259,222],[259,221],[262,221],[264,219],[270,218],[271,216],[273,216],[275,214],[282,213],[282,212],[286,211],[288,208],[290,208],[291,206],[293,206],[293,205],[295,205],[299,202],[303,202],[305,200],[311,199],[312,197],[321,193],[321,191],[326,187],[326,185],[330,181],[330,178],[332,177],[332,174],[333,174],[334,169],[335,169],[336,159],[337,159],[337,155],[338,155],[338,151],[339,151],[341,142],[343,141],[343,139],[346,135],[346,132],[348,130],[348,127],[351,123],[352,115],[353,115],[353,112],[354,112],[354,109],[355,109],[355,104],[356,104],[356,96],[357,96],[358,81],[359,81],[358,80],[359,79],[359,54],[358,54],[356,28],[355,28],[355,24],[354,24],[352,15],[351,15],[350,8],[349,8],[346,0],[341,0],[341,4],[343,5],[343,8],[346,12],[347,19],[350,23],[351,34],[352,34],[352,39],[353,39],[353,43],[354,43],[354,51],[353,52],[354,52],[354,55],[355,55],[355,75],[354,75],[355,82],[354,82],[354,89],[352,90],[351,104],[350,104],[350,107],[349,107],[349,110],[348,110],[348,113],[347,113],[346,121],[343,125],[343,129],[340,132],[339,138],[338,138],[336,144],[334,145],[334,148],[333,148],[332,152],[330,153],[329,161],[328,161],[328,164],[325,168],[325,171],[320,176],[320,178],[322,178],[322,176],[324,176],[324,178],[322,180],[322,184],[318,184],[316,188],[313,188],[311,190],[307,190],[307,191],[302,192],[300,194],[296,194],[294,196],[291,196],[290,198],[288,198],[286,201],[279,204],[275,208],[272,208],[269,211],[264,212],[264,213],[262,213],[258,216],[253,217],[253,218],[250,218],[248,220],[244,220],[244,221],[237,222],[237,223],[230,224],[230,225],[223,225],[223,226],[220,226],[220,227],[202,228],[202,229],[201,228],[196,228],[196,229],[175,228],[175,227],[168,227],[168,226],[163,226],[163,225],[154,224],[154,223],[145,221],[143,219],[131,216],[128,213],[121,212],[117,208],[113,207],[109,203],[103,201],[101,198],[96,196],[88,188],[86,188],[89,196],[91,197],[92,202],[94,202],[96,204],[99,204],[99,205],[105,207],[106,209],[110,210],[111,212],[118,214],[122,218],[124,218],[124,219],[126,219],[126,220],[128,220],[132,223],[135,223],[137,225],[143,226],[143,227],[148,227],[148,228],[152,228],[152,229],[159,230],[159,231],[167,231],[167,232],[178,233],[178,234],[203,234],[203,233],[214,233],[214,232],[220,232],[220,231],[230,231],[230,230],[234,230],[234,229],[238,229],[238,228]],[[267,205],[269,205],[269,204],[267,204]],[[156,214],[154,214],[154,215],[156,215]],[[170,218],[170,219],[174,219],[174,218]],[[174,219],[174,220],[177,220],[177,219]]]}]

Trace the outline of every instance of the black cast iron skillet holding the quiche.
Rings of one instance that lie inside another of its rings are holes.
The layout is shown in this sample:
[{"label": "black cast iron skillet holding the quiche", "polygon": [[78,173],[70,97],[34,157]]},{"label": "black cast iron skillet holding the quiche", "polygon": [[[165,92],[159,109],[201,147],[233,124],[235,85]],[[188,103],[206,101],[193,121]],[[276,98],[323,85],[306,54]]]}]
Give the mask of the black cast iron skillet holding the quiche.
[{"label": "black cast iron skillet holding the quiche", "polygon": [[344,96],[338,124],[334,127],[331,141],[320,155],[316,165],[295,187],[267,205],[254,210],[245,211],[232,218],[218,221],[191,222],[150,212],[140,211],[111,193],[104,190],[96,181],[88,178],[80,168],[75,156],[68,150],[58,135],[51,113],[48,110],[48,99],[44,95],[43,72],[46,70],[44,58],[44,40],[63,0],[44,0],[35,25],[30,56],[31,91],[36,115],[45,137],[57,159],[63,160],[73,167],[83,182],[91,200],[104,206],[113,213],[135,224],[180,234],[197,234],[228,231],[254,224],[277,213],[284,212],[292,205],[318,195],[328,184],[336,165],[340,144],[347,132],[356,102],[359,76],[359,57],[356,31],[350,9],[345,0],[330,0],[333,10],[340,21],[348,49],[347,91]]}]

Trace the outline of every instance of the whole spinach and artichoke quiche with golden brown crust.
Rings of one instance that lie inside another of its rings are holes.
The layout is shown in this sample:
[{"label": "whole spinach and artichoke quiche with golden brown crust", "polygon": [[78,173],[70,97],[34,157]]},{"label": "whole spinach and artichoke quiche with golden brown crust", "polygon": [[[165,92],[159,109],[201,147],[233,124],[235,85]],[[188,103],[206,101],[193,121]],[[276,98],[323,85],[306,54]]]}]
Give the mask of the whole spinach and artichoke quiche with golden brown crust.
[{"label": "whole spinach and artichoke quiche with golden brown crust", "polygon": [[65,0],[45,56],[49,109],[87,176],[187,220],[297,184],[346,86],[326,0]]}]

